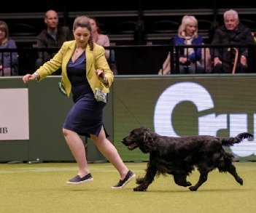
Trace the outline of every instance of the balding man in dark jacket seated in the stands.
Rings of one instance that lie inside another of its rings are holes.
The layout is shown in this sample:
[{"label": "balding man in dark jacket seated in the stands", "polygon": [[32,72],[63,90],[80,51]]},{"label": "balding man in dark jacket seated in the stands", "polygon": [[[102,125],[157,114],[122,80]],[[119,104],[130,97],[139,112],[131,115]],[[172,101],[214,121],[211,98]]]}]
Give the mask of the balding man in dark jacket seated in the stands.
[{"label": "balding man in dark jacket seated in the stands", "polygon": [[[67,26],[58,25],[58,13],[50,9],[44,14],[44,23],[46,28],[36,37],[37,48],[60,48],[64,41],[74,39],[73,33]],[[44,62],[50,60],[56,52],[39,52],[39,58],[36,60],[36,68],[39,68]],[[60,74],[61,71],[55,72]]]}]

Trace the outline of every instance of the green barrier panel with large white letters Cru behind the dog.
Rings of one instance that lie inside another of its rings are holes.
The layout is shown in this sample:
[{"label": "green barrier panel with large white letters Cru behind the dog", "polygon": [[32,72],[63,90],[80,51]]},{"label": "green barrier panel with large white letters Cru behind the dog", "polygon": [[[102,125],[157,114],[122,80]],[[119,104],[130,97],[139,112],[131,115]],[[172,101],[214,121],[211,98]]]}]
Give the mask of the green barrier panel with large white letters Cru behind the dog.
[{"label": "green barrier panel with large white letters Cru behind the dog", "polygon": [[[148,155],[128,150],[120,142],[141,124],[174,137],[256,134],[255,84],[255,74],[117,76],[115,146],[124,161],[148,161]],[[255,139],[232,148],[236,159],[255,161]]]}]

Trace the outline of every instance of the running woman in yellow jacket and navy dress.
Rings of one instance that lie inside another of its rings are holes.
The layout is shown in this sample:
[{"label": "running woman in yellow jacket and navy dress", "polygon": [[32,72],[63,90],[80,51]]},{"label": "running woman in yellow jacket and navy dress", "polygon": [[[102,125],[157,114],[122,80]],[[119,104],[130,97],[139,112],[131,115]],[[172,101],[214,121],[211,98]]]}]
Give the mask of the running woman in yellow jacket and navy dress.
[{"label": "running woman in yellow jacket and navy dress", "polygon": [[[103,108],[114,75],[104,56],[104,48],[93,43],[90,18],[79,16],[73,25],[74,41],[63,43],[59,52],[44,63],[34,74],[23,76],[24,83],[41,81],[62,69],[63,92],[73,95],[74,105],[66,116],[63,134],[78,164],[78,174],[68,184],[77,185],[93,180],[86,161],[85,146],[79,135],[90,137],[101,153],[120,173],[120,181],[112,188],[123,188],[135,174],[129,170],[114,145],[106,139],[109,135],[103,124]],[[99,91],[99,89],[101,91]],[[98,95],[98,92],[101,95]]]}]

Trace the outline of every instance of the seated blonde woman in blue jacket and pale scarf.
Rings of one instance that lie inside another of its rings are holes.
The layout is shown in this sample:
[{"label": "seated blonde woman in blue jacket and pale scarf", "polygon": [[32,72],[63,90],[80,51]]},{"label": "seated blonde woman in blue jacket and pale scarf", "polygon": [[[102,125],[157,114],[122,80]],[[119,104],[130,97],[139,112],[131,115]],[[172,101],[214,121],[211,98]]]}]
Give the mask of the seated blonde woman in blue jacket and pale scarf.
[{"label": "seated blonde woman in blue jacket and pale scarf", "polygon": [[[174,36],[174,45],[203,44],[202,36],[198,35],[198,20],[193,15],[182,17],[178,35]],[[203,73],[201,65],[201,48],[177,48],[179,51],[179,73]]]}]

